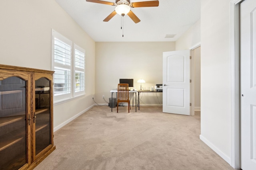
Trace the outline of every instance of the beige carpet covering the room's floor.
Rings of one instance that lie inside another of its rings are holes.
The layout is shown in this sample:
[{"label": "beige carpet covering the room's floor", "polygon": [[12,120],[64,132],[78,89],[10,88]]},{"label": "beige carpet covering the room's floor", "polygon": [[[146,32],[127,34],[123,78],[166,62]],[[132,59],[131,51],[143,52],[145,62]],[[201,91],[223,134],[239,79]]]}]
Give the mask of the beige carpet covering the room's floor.
[{"label": "beige carpet covering the room's floor", "polygon": [[200,112],[118,111],[95,106],[56,131],[56,150],[35,170],[234,170],[199,139]]}]

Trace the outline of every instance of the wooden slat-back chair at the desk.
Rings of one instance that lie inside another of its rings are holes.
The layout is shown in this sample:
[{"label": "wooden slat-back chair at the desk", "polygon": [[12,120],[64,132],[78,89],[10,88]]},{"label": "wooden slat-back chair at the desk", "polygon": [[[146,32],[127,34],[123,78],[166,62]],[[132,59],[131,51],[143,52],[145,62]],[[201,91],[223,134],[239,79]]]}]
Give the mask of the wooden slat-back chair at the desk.
[{"label": "wooden slat-back chair at the desk", "polygon": [[129,84],[120,83],[117,88],[117,113],[118,113],[118,104],[121,102],[128,103],[128,112],[130,113],[130,100],[129,100]]}]

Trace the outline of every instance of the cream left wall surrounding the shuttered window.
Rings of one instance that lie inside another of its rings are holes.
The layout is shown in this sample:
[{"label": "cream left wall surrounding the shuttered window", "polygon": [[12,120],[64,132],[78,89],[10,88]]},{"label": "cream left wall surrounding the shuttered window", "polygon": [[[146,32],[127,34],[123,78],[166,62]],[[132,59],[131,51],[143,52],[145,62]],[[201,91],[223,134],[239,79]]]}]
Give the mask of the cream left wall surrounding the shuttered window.
[{"label": "cream left wall surrounding the shuttered window", "polygon": [[54,106],[54,128],[94,103],[95,42],[54,0],[0,1],[0,64],[51,70],[52,29],[86,49],[86,96]]}]

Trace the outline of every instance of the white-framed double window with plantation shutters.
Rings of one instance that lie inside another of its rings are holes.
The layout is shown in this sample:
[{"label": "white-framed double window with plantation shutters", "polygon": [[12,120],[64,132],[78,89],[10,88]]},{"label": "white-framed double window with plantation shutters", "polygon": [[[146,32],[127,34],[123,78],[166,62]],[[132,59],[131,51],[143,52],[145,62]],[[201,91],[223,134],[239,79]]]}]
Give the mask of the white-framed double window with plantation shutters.
[{"label": "white-framed double window with plantation shutters", "polygon": [[54,102],[85,94],[85,50],[52,30]]}]

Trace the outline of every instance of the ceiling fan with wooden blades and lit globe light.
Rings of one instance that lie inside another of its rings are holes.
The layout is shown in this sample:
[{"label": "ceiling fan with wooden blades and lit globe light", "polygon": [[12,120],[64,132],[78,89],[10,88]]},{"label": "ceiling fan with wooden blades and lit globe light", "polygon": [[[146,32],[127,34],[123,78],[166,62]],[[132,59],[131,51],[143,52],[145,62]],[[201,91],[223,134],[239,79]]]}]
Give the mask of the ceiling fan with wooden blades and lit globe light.
[{"label": "ceiling fan with wooden blades and lit globe light", "polygon": [[106,4],[116,6],[116,9],[105,18],[103,21],[108,22],[111,18],[113,18],[116,14],[120,16],[125,16],[126,14],[135,22],[140,22],[140,19],[130,10],[131,8],[138,8],[138,7],[154,7],[159,5],[158,0],[153,1],[144,1],[144,2],[130,2],[130,0],[116,0],[116,3],[113,2],[106,2],[102,0],[86,0],[86,2],[94,2],[98,4]]}]

